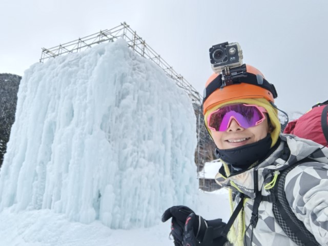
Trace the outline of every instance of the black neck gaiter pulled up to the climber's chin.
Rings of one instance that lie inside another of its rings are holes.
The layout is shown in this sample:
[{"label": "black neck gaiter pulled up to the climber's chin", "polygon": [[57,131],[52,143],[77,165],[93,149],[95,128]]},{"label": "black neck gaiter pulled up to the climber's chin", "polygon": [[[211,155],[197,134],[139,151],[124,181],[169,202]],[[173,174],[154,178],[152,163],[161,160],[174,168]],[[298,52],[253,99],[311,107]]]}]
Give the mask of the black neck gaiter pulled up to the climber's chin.
[{"label": "black neck gaiter pulled up to the climber's chin", "polygon": [[253,144],[228,150],[216,149],[215,154],[236,171],[241,171],[248,169],[255,161],[262,160],[268,154],[271,144],[271,135],[268,134]]}]

